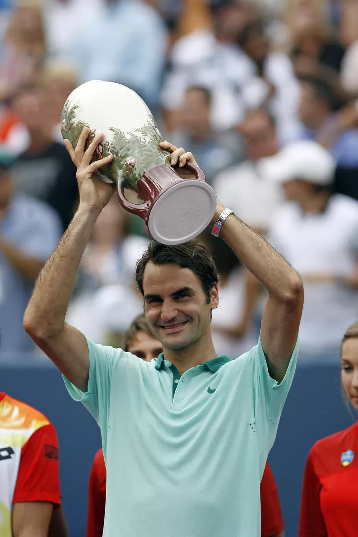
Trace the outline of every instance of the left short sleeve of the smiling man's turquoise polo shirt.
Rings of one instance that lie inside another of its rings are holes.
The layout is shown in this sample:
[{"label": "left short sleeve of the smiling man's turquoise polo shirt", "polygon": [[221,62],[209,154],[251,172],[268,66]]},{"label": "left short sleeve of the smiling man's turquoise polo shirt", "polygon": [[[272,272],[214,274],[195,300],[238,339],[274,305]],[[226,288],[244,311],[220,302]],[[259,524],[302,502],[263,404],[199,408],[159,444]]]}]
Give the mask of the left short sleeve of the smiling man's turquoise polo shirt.
[{"label": "left short sleeve of the smiling man's turquoise polo shirt", "polygon": [[125,354],[122,349],[93,343],[87,339],[90,356],[90,374],[87,391],[84,393],[63,377],[68,393],[75,401],[81,402],[101,426],[105,423],[109,395],[111,393],[112,371],[116,361]]}]

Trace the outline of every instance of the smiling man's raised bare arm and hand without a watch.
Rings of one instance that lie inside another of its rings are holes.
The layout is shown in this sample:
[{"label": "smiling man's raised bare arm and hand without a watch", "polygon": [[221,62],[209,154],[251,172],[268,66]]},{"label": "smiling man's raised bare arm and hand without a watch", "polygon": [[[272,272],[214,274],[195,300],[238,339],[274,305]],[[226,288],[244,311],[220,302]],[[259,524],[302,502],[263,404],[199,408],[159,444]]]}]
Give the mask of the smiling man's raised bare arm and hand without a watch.
[{"label": "smiling man's raised bare arm and hand without a watch", "polygon": [[60,243],[43,266],[24,316],[24,328],[34,342],[46,352],[61,373],[77,388],[87,389],[90,361],[84,335],[65,323],[76,272],[94,224],[112,198],[115,185],[101,181],[93,173],[111,162],[109,155],[93,162],[92,157],[103,135],[97,136],[84,151],[88,136],[85,127],[76,149],[65,146],[76,165],[79,205]]}]

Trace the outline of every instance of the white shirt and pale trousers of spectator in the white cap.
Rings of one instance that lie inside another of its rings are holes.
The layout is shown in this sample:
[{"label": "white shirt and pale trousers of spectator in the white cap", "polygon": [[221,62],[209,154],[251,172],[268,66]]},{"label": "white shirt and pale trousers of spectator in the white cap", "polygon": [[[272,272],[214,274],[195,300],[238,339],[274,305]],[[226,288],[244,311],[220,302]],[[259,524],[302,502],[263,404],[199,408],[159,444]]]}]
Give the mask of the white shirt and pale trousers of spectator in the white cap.
[{"label": "white shirt and pale trousers of spectator in the white cap", "polygon": [[269,242],[303,279],[301,359],[339,352],[342,334],[358,318],[358,290],[312,277],[352,277],[358,260],[358,202],[335,194],[321,214],[304,214],[298,204],[287,203],[275,217]]}]

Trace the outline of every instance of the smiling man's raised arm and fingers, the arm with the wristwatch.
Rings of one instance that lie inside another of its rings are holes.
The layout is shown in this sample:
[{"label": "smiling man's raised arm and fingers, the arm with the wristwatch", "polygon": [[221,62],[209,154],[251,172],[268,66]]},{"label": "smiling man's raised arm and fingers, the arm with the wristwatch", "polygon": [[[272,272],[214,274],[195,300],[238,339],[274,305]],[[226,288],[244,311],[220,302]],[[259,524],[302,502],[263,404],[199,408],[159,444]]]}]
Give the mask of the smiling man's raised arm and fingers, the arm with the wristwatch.
[{"label": "smiling man's raised arm and fingers, the arm with the wristwatch", "polygon": [[[162,147],[172,151],[171,163],[195,163],[191,153],[169,142]],[[218,202],[211,224],[225,207]],[[237,216],[225,220],[221,237],[235,251],[255,278],[267,289],[269,297],[262,314],[260,339],[269,373],[277,382],[286,374],[294,350],[303,308],[303,284],[299,274],[273,246]]]}]

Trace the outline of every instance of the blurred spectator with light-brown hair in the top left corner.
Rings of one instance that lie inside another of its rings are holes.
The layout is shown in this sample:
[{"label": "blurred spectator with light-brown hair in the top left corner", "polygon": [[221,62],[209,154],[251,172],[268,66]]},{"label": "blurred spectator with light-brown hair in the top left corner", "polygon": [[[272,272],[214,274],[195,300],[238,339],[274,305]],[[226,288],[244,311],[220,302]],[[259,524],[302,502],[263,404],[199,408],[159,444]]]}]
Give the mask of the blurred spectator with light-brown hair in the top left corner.
[{"label": "blurred spectator with light-brown hair in the top left corner", "polygon": [[11,97],[19,84],[33,81],[45,54],[42,11],[34,3],[20,2],[0,47],[0,101]]}]

